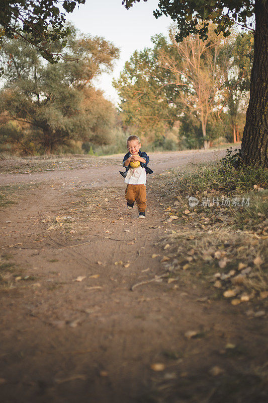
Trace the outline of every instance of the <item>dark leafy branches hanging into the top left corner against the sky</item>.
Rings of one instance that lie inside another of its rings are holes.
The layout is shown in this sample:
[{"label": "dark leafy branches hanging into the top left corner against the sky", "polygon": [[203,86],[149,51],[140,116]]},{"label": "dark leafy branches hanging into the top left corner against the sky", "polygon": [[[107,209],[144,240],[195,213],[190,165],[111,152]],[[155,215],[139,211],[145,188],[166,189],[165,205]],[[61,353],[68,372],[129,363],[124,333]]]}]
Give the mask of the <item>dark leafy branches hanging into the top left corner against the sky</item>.
[{"label": "dark leafy branches hanging into the top left corner against the sky", "polygon": [[[69,33],[65,26],[66,13],[85,0],[1,0],[0,47],[3,38],[21,38],[36,46],[39,54],[50,62],[62,55],[53,51],[53,43],[62,41]],[[64,42],[63,42],[64,43]],[[0,60],[5,62],[5,59]],[[3,68],[2,68],[3,72]]]}]

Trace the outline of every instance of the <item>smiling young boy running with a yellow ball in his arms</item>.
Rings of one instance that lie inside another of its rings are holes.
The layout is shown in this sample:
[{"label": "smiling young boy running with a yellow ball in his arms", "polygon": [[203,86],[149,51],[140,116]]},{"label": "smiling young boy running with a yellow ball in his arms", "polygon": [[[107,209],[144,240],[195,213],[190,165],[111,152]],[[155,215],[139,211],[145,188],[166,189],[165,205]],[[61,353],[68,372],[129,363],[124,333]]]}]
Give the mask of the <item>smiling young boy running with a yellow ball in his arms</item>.
[{"label": "smiling young boy running with a yellow ball in his arms", "polygon": [[153,171],[147,167],[149,157],[141,152],[141,144],[138,136],[129,136],[127,139],[129,152],[123,159],[123,166],[126,168],[121,175],[127,183],[126,199],[128,209],[133,209],[136,200],[139,218],[145,218],[146,209],[146,174]]}]

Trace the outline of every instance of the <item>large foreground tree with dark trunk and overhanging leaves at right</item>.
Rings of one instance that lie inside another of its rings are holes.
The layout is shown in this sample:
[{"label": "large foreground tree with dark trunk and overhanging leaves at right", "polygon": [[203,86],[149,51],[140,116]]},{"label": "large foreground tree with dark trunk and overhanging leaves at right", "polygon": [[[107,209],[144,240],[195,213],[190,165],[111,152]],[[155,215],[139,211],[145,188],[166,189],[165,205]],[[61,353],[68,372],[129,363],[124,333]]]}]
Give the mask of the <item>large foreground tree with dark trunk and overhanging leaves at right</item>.
[{"label": "large foreground tree with dark trunk and overhanging leaves at right", "polygon": [[[123,0],[130,8],[140,0]],[[146,1],[146,0],[144,0]],[[159,0],[155,17],[170,16],[178,26],[177,39],[189,34],[206,38],[209,22],[224,36],[239,24],[254,34],[254,58],[250,77],[250,98],[243,132],[241,159],[245,164],[268,167],[268,2],[267,0]],[[255,16],[255,28],[247,19]],[[200,24],[200,20],[202,24]]]}]

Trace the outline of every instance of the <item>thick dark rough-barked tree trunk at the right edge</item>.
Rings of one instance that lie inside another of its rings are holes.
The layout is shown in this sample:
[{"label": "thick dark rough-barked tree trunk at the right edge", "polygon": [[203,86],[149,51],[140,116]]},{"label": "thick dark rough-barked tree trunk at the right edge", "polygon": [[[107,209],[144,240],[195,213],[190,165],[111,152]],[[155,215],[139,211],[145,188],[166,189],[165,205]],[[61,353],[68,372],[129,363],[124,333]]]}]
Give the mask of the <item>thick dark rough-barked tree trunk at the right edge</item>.
[{"label": "thick dark rough-barked tree trunk at the right edge", "polygon": [[250,99],[241,158],[247,165],[268,167],[268,1],[255,0],[256,28]]}]

